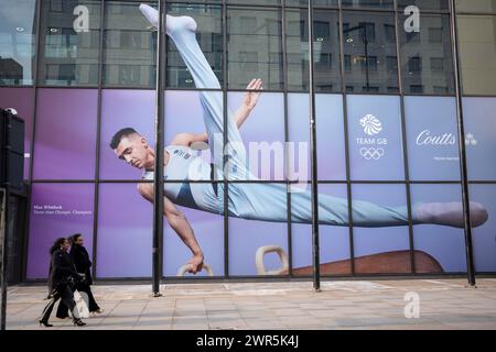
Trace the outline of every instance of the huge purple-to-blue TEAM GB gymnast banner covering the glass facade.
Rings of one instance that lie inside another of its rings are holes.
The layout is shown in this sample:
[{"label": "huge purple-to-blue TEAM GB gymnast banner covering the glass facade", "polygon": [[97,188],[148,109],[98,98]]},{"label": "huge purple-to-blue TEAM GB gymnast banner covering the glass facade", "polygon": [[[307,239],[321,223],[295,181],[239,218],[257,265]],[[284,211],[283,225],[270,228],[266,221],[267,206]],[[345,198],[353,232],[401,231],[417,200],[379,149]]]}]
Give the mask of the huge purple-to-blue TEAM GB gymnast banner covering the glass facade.
[{"label": "huge purple-to-blue TEAM GB gymnast banner covering the glass facade", "polygon": [[[139,10],[153,24],[157,12],[137,4]],[[237,30],[238,10],[230,12]],[[218,32],[219,18],[209,22],[208,15],[198,14],[198,23],[168,19],[175,43],[168,74],[196,90],[166,90],[164,97],[163,275],[281,276],[289,274],[290,255],[294,275],[311,275],[310,97],[266,92],[280,84],[276,74],[267,74],[272,64],[260,66],[272,86],[250,76],[230,82],[245,91],[223,91],[223,75],[212,64],[218,51],[211,47],[212,55],[204,57],[208,41],[197,29],[209,25],[208,33]],[[249,61],[236,63],[245,64]],[[15,95],[9,103],[19,105],[21,116],[32,116],[31,90],[3,91],[0,103]],[[151,89],[37,89],[29,278],[45,277],[50,245],[74,233],[86,237],[90,253],[95,241],[98,278],[152,275],[154,99]],[[323,275],[349,275],[352,268],[357,274],[466,271],[455,100],[406,97],[402,119],[400,99],[316,96]],[[465,99],[468,172],[479,182],[472,185],[471,210],[481,272],[496,270],[495,101]]]}]

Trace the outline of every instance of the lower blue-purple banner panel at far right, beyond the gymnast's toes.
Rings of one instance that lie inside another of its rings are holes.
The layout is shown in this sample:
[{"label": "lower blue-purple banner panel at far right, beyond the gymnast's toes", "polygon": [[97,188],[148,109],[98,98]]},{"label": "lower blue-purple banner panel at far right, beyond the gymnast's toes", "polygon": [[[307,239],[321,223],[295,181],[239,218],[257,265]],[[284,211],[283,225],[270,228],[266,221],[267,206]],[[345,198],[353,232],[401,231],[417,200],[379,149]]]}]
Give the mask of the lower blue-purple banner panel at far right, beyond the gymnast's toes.
[{"label": "lower blue-purple banner panel at far right, beyond the gymnast's toes", "polygon": [[489,213],[489,220],[473,229],[475,270],[479,273],[496,272],[496,185],[471,185],[471,200],[481,202]]}]

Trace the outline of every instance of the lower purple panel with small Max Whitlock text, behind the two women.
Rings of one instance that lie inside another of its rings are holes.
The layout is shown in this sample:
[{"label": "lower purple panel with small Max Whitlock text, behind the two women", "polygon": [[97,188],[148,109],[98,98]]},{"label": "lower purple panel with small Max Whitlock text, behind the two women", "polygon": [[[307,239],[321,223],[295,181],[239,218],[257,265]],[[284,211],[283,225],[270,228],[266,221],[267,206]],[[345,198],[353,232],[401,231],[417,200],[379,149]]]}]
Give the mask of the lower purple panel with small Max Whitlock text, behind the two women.
[{"label": "lower purple panel with small Max Whitlock text, behind the two women", "polygon": [[34,215],[34,206],[60,205],[63,210],[91,211],[94,185],[91,184],[35,184],[32,188],[31,224],[28,245],[28,278],[46,278],[50,267],[48,250],[57,238],[74,233],[85,237],[85,246],[93,253],[91,216]]}]

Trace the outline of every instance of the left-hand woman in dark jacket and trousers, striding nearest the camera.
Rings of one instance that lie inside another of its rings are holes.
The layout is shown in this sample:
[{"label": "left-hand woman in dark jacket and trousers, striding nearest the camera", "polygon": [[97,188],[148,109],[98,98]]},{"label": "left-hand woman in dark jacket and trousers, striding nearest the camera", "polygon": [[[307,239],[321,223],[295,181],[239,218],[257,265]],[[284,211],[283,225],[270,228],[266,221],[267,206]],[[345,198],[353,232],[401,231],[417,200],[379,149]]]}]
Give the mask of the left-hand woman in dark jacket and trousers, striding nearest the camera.
[{"label": "left-hand woman in dark jacket and trousers, striding nearest the camera", "polygon": [[53,285],[53,298],[48,301],[45,309],[43,309],[43,315],[40,319],[40,324],[47,328],[53,327],[48,323],[48,319],[53,307],[58,299],[62,299],[64,305],[73,312],[75,326],[82,327],[86,324],[79,318],[76,302],[74,301],[74,292],[71,287],[71,283],[73,280],[78,280],[80,275],[77,274],[73,263],[71,262],[71,256],[67,253],[68,248],[68,241],[61,238],[57,239],[50,249],[50,254],[52,255],[52,271],[50,273],[50,279]]}]

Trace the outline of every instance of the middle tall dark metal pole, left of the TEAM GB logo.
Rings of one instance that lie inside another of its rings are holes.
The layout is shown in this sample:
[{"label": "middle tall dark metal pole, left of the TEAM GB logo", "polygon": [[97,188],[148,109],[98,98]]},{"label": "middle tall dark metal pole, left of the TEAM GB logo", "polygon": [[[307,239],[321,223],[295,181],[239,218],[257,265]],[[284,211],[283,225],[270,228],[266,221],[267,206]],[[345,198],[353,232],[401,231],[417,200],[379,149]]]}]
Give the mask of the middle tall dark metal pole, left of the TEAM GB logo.
[{"label": "middle tall dark metal pole, left of the TEAM GB logo", "polygon": [[312,242],[313,288],[321,290],[321,260],[319,245],[319,185],[316,158],[315,82],[313,77],[313,7],[309,0],[309,70],[310,70],[310,150],[312,164]]}]

